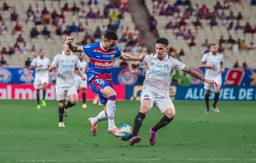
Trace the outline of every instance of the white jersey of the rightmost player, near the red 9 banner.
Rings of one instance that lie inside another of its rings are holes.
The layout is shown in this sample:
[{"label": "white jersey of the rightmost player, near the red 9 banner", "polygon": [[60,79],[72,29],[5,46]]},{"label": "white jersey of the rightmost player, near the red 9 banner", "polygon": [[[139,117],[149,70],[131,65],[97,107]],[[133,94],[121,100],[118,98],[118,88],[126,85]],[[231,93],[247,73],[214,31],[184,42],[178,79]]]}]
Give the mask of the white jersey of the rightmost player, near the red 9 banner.
[{"label": "white jersey of the rightmost player, near the red 9 banner", "polygon": [[202,56],[201,62],[206,63],[206,65],[215,65],[215,68],[206,68],[205,69],[205,78],[221,78],[221,63],[223,63],[223,55],[217,53],[213,55],[212,52],[205,53]]}]

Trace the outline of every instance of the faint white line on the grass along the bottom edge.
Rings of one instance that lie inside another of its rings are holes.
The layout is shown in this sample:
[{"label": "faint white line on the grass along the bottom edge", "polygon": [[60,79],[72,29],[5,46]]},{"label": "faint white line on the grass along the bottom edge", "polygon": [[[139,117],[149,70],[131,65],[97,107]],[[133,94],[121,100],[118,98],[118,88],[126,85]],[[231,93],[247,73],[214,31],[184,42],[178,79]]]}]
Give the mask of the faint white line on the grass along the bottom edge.
[{"label": "faint white line on the grass along the bottom edge", "polygon": [[17,161],[5,161],[4,163],[74,163],[74,162],[80,162],[80,163],[90,163],[90,162],[133,162],[133,161],[247,161],[247,162],[256,162],[256,159],[217,159],[217,158],[209,158],[209,159],[197,159],[197,158],[191,158],[191,159],[185,159],[185,158],[172,158],[172,159],[95,159],[95,160],[83,160],[83,159],[73,159],[73,160],[17,160]]}]

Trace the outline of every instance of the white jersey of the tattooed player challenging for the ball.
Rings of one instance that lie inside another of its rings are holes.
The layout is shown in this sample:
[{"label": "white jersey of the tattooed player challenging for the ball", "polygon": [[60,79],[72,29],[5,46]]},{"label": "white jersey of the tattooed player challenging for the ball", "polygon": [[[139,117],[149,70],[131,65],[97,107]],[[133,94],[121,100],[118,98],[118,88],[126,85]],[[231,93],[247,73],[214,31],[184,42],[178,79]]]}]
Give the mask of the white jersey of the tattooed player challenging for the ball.
[{"label": "white jersey of the tattooed player challenging for the ball", "polygon": [[156,54],[145,56],[140,66],[147,65],[146,79],[143,82],[143,90],[147,89],[156,93],[159,97],[169,97],[170,82],[173,70],[183,70],[185,65],[179,60],[166,54],[160,61]]}]

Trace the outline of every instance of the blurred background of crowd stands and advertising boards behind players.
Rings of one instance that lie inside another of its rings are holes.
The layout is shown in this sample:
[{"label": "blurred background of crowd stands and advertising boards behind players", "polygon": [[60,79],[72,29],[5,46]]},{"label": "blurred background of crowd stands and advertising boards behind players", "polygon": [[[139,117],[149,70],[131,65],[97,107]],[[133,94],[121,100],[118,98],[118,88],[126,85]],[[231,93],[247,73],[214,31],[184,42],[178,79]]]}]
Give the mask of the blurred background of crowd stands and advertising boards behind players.
[{"label": "blurred background of crowd stands and advertising boards behind players", "polygon": [[[112,30],[121,50],[134,56],[154,53],[156,39],[166,37],[168,55],[202,75],[201,57],[215,43],[226,67],[220,99],[255,100],[255,20],[256,0],[0,0],[0,98],[35,99],[29,65],[39,49],[52,61],[68,35],[82,45]],[[115,60],[113,82],[119,99],[138,100],[145,67],[134,76],[128,64]],[[46,99],[55,99],[55,75]],[[176,71],[171,85],[173,99],[204,98],[202,82],[183,72]]]}]

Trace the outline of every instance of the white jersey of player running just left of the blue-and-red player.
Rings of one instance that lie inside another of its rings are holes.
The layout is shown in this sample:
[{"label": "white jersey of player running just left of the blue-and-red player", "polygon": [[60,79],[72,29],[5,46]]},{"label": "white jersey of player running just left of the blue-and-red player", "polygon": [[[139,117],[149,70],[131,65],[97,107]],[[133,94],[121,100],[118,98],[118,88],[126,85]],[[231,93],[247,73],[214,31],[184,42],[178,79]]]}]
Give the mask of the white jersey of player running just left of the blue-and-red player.
[{"label": "white jersey of player running just left of the blue-and-red player", "polygon": [[57,65],[56,86],[68,87],[74,85],[74,68],[78,65],[78,57],[73,53],[67,56],[62,51],[55,56],[52,65]]}]

